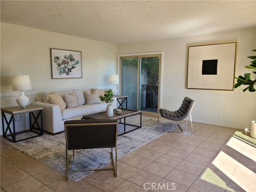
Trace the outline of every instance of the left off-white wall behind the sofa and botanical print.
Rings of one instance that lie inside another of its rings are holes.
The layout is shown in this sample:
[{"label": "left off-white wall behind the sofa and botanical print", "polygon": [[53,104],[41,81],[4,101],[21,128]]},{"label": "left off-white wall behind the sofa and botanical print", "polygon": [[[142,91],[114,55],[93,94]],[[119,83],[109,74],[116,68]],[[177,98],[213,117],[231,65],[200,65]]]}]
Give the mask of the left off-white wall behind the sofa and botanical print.
[{"label": "left off-white wall behind the sofa and botanical print", "polygon": [[[1,22],[1,108],[18,106],[12,75],[28,74],[30,102],[43,91],[111,88],[108,75],[117,74],[117,45]],[[52,79],[50,48],[82,52],[83,78]],[[2,124],[1,124],[2,126]],[[1,128],[2,130],[2,128]]]}]

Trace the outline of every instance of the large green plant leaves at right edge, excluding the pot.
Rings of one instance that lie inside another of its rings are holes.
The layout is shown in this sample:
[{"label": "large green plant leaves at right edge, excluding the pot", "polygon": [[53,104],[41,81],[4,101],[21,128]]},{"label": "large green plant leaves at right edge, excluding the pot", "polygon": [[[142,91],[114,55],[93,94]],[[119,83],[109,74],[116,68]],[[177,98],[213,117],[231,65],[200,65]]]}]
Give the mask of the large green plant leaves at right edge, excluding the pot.
[{"label": "large green plant leaves at right edge, excluding the pot", "polygon": [[[256,52],[256,49],[252,50],[254,52]],[[249,56],[247,58],[253,59],[251,61],[251,64],[249,64],[248,66],[245,66],[245,68],[247,69],[255,69],[256,70],[256,56]],[[253,72],[254,74],[256,74],[256,71]],[[254,88],[254,85],[256,85],[256,78],[255,80],[252,80],[251,74],[250,73],[246,73],[244,74],[244,76],[238,76],[238,77],[234,77],[236,80],[236,84],[234,85],[234,88],[238,88],[241,85],[248,85],[248,87],[246,87],[243,92],[245,92],[246,90],[250,91],[250,92],[254,92],[256,91]]]}]

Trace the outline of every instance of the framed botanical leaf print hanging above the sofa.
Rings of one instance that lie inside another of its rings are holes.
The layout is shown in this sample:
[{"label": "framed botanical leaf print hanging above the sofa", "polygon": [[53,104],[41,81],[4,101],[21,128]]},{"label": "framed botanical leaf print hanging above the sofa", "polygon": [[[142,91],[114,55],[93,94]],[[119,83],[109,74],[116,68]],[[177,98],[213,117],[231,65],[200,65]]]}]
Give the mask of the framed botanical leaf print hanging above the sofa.
[{"label": "framed botanical leaf print hanging above the sofa", "polygon": [[82,78],[82,52],[50,48],[52,79]]}]

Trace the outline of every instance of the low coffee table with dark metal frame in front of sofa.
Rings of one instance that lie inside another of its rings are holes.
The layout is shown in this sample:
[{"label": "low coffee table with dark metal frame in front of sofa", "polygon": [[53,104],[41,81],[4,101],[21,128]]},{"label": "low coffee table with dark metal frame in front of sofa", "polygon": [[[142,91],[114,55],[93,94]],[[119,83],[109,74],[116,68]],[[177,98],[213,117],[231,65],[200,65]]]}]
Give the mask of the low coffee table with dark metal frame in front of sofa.
[{"label": "low coffee table with dark metal frame in front of sofa", "polygon": [[[133,115],[138,115],[138,114],[140,114],[140,126],[126,123],[126,118],[127,117],[130,117],[130,116],[133,116]],[[133,110],[133,109],[124,109],[124,108],[122,108],[122,114],[120,114],[120,115],[117,115],[116,110],[114,110],[114,116],[112,116],[112,117],[107,117],[106,112],[100,112],[100,113],[85,115],[85,116],[82,117],[82,119],[117,119],[117,120],[119,120],[119,124],[124,124],[124,132],[122,134],[119,134],[118,136],[126,134],[126,133],[131,132],[131,131],[134,131],[138,128],[141,128],[141,112],[137,111],[137,110]],[[124,119],[124,122],[121,121],[122,119]],[[126,132],[126,125],[134,126],[136,128]]]}]

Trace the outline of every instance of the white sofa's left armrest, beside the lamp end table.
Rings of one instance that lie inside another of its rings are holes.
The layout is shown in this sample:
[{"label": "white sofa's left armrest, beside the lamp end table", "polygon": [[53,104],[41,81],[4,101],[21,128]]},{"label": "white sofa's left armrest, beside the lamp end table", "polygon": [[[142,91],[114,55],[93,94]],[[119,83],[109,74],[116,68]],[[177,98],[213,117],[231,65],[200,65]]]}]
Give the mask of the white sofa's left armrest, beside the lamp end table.
[{"label": "white sofa's left armrest, beside the lamp end table", "polygon": [[64,130],[62,114],[58,105],[44,102],[32,102],[31,104],[43,108],[43,126],[45,131],[54,134]]}]

